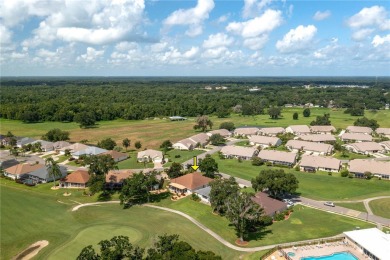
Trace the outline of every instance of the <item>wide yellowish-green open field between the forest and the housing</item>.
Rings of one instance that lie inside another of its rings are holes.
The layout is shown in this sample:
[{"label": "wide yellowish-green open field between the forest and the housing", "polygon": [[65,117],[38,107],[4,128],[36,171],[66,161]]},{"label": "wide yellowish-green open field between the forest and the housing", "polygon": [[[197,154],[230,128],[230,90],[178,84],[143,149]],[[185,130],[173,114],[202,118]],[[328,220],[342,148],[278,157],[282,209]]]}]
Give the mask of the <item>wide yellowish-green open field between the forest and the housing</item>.
[{"label": "wide yellowish-green open field between the forest and the housing", "polygon": [[[294,112],[302,114],[301,108],[283,109],[282,118],[270,119],[268,115],[257,116],[239,116],[232,115],[229,118],[210,117],[214,123],[214,128],[218,128],[220,123],[232,121],[239,126],[282,126],[287,127],[292,124],[310,124],[316,116],[324,113],[330,114],[332,124],[336,128],[345,128],[352,125],[358,117],[353,117],[343,113],[343,109],[331,110],[328,108],[312,108],[310,117],[300,117],[299,120],[293,120]],[[378,121],[381,127],[390,127],[389,110],[380,110],[378,112],[366,111],[365,116]],[[53,128],[60,128],[69,131],[71,141],[81,141],[88,139],[91,144],[96,144],[103,138],[111,137],[118,145],[122,144],[124,138],[131,140],[131,147],[135,141],[141,141],[143,148],[157,149],[164,140],[172,142],[186,138],[195,134],[193,130],[194,119],[187,121],[171,122],[166,119],[157,120],[114,120],[101,121],[96,128],[80,129],[76,123],[43,122],[35,124],[25,124],[21,121],[0,119],[2,134],[11,131],[15,135],[40,138],[43,134]]]}]

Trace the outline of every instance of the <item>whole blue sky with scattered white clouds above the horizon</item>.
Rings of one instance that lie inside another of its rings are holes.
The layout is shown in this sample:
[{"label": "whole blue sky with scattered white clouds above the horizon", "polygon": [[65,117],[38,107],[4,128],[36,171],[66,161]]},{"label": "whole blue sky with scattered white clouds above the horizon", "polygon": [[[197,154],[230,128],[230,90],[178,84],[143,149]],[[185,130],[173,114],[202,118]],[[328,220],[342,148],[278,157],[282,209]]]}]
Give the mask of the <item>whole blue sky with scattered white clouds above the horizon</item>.
[{"label": "whole blue sky with scattered white clouds above the horizon", "polygon": [[0,0],[1,76],[390,76],[389,1]]}]

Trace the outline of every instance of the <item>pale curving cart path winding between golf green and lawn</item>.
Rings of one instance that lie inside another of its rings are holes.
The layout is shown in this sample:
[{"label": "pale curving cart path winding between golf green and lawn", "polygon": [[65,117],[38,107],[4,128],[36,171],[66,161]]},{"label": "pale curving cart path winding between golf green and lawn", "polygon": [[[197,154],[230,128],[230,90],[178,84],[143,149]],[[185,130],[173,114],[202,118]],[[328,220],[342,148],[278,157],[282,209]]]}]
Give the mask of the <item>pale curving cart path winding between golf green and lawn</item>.
[{"label": "pale curving cart path winding between golf green and lawn", "polygon": [[[85,204],[81,204],[81,205],[77,205],[77,206],[73,207],[72,211],[77,211],[78,209],[80,209],[82,207],[87,207],[87,206],[96,206],[96,205],[100,205],[100,204],[118,204],[118,203],[119,203],[119,201],[105,201],[105,202],[85,203]],[[154,208],[154,209],[159,209],[159,210],[164,210],[164,211],[168,211],[168,212],[171,212],[171,213],[174,213],[174,214],[178,214],[178,215],[188,219],[189,221],[191,221],[195,225],[197,225],[199,228],[201,228],[202,230],[207,232],[209,235],[214,237],[216,240],[218,240],[223,245],[225,245],[225,246],[227,246],[227,247],[229,247],[229,248],[231,248],[233,250],[241,251],[241,252],[257,252],[257,251],[272,249],[272,248],[274,248],[276,246],[282,246],[282,245],[292,246],[294,244],[299,244],[299,243],[317,242],[317,241],[319,241],[321,239],[332,239],[332,238],[340,237],[340,235],[336,235],[336,236],[332,236],[332,237],[316,238],[316,239],[309,239],[309,240],[304,240],[304,241],[294,241],[294,242],[284,243],[284,244],[274,244],[274,245],[258,246],[258,247],[239,247],[239,246],[236,246],[236,245],[233,245],[233,244],[229,243],[228,241],[223,239],[220,235],[218,235],[214,231],[210,230],[209,228],[204,226],[202,223],[200,223],[199,221],[195,220],[193,217],[191,217],[191,216],[189,216],[189,215],[187,215],[187,214],[185,214],[185,213],[183,213],[181,211],[174,210],[174,209],[169,209],[169,208],[164,208],[164,207],[160,207],[160,206],[155,206],[155,205],[150,205],[150,204],[144,204],[142,206],[149,207],[149,208]]]}]

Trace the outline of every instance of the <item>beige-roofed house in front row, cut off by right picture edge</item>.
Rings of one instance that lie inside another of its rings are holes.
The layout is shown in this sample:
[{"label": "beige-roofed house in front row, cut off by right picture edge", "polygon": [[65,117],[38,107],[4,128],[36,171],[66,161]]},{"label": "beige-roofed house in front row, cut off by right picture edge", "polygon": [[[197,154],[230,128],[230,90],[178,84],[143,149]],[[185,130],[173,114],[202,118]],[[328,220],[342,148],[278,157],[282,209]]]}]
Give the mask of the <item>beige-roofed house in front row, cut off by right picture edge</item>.
[{"label": "beige-roofed house in front row, cut off by right picture edge", "polygon": [[371,172],[374,176],[390,180],[390,161],[376,161],[366,159],[350,160],[348,170],[357,178],[364,178],[365,172]]}]

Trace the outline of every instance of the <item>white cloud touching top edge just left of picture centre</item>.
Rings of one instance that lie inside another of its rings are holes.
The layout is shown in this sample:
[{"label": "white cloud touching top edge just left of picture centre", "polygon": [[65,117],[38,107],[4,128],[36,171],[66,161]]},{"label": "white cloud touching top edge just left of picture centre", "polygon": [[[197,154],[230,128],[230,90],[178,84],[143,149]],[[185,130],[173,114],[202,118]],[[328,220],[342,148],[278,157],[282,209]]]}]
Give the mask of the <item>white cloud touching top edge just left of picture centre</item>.
[{"label": "white cloud touching top edge just left of picture centre", "polygon": [[163,24],[168,29],[175,25],[188,25],[189,29],[186,34],[194,37],[202,33],[202,24],[209,18],[209,13],[213,8],[213,0],[198,0],[197,5],[193,8],[179,9],[171,13],[163,21]]}]

